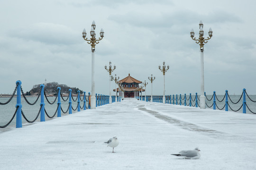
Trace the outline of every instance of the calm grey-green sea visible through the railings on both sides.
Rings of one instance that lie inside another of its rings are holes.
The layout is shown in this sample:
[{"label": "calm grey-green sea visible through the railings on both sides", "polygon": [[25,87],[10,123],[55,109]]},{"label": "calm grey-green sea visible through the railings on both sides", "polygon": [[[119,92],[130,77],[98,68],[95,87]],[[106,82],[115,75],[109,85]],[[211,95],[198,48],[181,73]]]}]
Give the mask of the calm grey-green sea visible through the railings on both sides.
[{"label": "calm grey-green sea visible through the railings on both sides", "polygon": [[[232,102],[238,102],[239,98],[240,98],[241,95],[230,95],[230,98],[232,100]],[[183,98],[184,96],[182,96]],[[189,97],[189,96],[188,96]],[[207,98],[210,100],[212,97],[212,95],[207,95]],[[222,100],[224,95],[217,95],[218,99],[219,100]],[[256,95],[249,95],[249,97],[253,100],[253,101],[256,101]],[[47,97],[48,100],[50,102],[53,102],[55,100],[55,97]],[[67,97],[64,97],[64,99],[66,99]],[[179,96],[178,96],[179,98]],[[192,95],[192,99],[194,99],[194,95]],[[37,97],[27,97],[27,100],[29,102],[35,102],[37,99]],[[74,99],[76,99],[76,97],[74,97]],[[9,100],[9,98],[5,98],[5,97],[0,97],[0,102],[7,102]],[[213,99],[209,102],[206,100],[208,106],[211,106],[212,105],[212,101]],[[249,107],[250,110],[252,110],[253,112],[256,112],[256,102],[251,102],[249,100],[248,97],[246,97],[246,101],[247,101],[247,105]],[[12,116],[14,115],[15,113],[15,105],[16,105],[16,102],[17,102],[17,99],[16,97],[14,97],[11,102],[9,102],[8,104],[6,105],[0,105],[0,126],[4,126],[6,125],[9,120],[12,118]],[[183,101],[184,102],[184,101]],[[240,108],[240,106],[242,105],[243,103],[243,98],[240,100],[240,102],[238,102],[237,104],[233,104],[232,102],[230,102],[229,100],[229,105],[230,107],[233,109],[233,110],[238,110]],[[88,103],[88,102],[87,102]],[[192,102],[192,105],[194,105],[195,102]],[[200,103],[198,101],[198,103]],[[40,109],[40,97],[37,101],[37,103],[35,105],[28,105],[27,102],[24,100],[24,98],[22,97],[21,98],[21,104],[22,104],[22,110],[23,110],[23,113],[25,114],[26,118],[30,121],[34,120],[38,114],[38,111]],[[82,104],[83,102],[81,101],[81,107],[82,107]],[[189,104],[189,101],[187,101],[187,104]],[[217,99],[216,99],[216,104],[218,105],[218,107],[221,109],[223,108],[223,106],[225,105],[225,99],[222,101],[222,102],[218,102]],[[88,104],[87,104],[88,105]],[[67,110],[68,108],[68,101],[64,102],[62,99],[61,99],[61,106],[62,106],[62,109],[64,111]],[[77,106],[77,101],[76,102],[73,102],[72,101],[72,106],[73,106],[73,109],[76,108]],[[208,108],[208,107],[207,107]],[[54,113],[55,113],[55,110],[57,109],[57,101],[54,103],[54,104],[49,104],[47,101],[46,101],[46,98],[45,98],[45,109],[47,111],[47,114],[49,116],[53,116]],[[211,107],[210,109],[213,109],[213,107]],[[216,109],[218,110],[218,108],[216,107]],[[225,108],[223,109],[225,110]],[[72,110],[73,111],[73,110]],[[229,108],[229,111],[232,111],[230,110]],[[73,111],[73,113],[76,112],[76,111]],[[240,112],[242,114],[243,112],[243,108],[241,108],[238,112]],[[62,116],[64,115],[67,115],[67,113],[62,113]],[[252,114],[248,109],[247,109],[247,114]],[[57,114],[55,115],[55,118],[57,117]],[[49,118],[45,115],[45,118],[46,120],[48,120]],[[55,119],[54,118],[54,119]],[[36,121],[40,121],[40,115],[38,116],[37,120]],[[22,126],[26,126],[27,124],[27,121],[22,117]],[[5,127],[5,128],[0,128],[0,132],[2,131],[5,131],[5,130],[8,130],[9,128],[13,128],[16,126],[16,116],[15,118],[12,120],[12,122],[9,124],[8,127]]]}]

